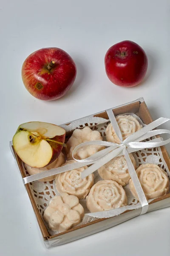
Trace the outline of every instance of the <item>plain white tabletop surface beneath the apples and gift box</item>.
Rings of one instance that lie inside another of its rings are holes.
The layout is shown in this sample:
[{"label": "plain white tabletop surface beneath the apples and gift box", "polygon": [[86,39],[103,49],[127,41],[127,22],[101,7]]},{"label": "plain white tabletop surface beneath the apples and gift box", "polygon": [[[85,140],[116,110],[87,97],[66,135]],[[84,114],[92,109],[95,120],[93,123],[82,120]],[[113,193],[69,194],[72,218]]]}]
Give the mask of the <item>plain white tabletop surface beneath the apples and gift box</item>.
[{"label": "plain white tabletop surface beneath the apples and gift box", "polygon": [[[154,119],[170,117],[169,15],[168,0],[0,2],[0,255],[170,254],[170,208],[47,250],[8,145],[23,122],[61,124],[140,96]],[[140,86],[117,87],[105,74],[105,52],[122,40],[135,41],[148,55],[147,79]],[[65,97],[43,102],[26,91],[21,66],[31,52],[53,46],[74,58],[77,79]],[[170,123],[163,127],[170,129]]]}]

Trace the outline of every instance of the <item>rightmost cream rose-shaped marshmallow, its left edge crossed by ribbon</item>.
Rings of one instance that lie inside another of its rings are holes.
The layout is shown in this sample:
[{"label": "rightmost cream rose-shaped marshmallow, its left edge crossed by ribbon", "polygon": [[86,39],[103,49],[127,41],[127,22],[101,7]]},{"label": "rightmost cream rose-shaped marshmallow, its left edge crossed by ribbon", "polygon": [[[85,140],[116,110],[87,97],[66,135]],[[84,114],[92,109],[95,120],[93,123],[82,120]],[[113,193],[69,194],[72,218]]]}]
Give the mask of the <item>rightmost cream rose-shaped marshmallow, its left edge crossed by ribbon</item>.
[{"label": "rightmost cream rose-shaped marshmallow, its left edge crossed by ribbon", "polygon": [[[142,164],[136,169],[136,173],[147,200],[158,198],[169,192],[170,180],[167,173],[156,164]],[[129,188],[133,196],[139,200],[132,179],[129,180]]]}]

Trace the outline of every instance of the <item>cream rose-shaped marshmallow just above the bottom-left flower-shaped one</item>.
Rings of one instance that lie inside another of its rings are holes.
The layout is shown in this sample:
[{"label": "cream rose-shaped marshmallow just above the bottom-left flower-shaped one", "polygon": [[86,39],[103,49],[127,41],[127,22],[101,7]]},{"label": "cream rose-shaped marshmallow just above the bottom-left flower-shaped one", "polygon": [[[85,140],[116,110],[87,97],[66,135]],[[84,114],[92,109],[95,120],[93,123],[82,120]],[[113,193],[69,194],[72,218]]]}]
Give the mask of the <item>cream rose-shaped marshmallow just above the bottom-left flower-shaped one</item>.
[{"label": "cream rose-shaped marshmallow just above the bottom-left flower-shaped one", "polygon": [[[76,163],[76,161],[66,161],[62,166],[71,163]],[[66,192],[69,195],[76,195],[79,199],[84,199],[94,184],[94,174],[90,174],[84,179],[81,178],[81,172],[85,169],[87,166],[57,174],[55,182],[59,193]]]}]

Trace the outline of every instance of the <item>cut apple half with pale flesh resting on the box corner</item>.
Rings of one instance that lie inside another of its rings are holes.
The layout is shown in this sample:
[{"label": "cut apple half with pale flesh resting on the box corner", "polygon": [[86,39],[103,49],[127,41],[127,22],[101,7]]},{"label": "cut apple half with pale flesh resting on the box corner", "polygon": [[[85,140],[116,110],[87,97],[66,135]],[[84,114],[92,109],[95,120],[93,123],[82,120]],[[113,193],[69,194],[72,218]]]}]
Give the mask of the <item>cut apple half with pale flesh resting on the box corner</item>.
[{"label": "cut apple half with pale flesh resting on the box corner", "polygon": [[34,168],[42,168],[56,160],[64,142],[65,130],[46,122],[24,123],[13,137],[17,155]]}]

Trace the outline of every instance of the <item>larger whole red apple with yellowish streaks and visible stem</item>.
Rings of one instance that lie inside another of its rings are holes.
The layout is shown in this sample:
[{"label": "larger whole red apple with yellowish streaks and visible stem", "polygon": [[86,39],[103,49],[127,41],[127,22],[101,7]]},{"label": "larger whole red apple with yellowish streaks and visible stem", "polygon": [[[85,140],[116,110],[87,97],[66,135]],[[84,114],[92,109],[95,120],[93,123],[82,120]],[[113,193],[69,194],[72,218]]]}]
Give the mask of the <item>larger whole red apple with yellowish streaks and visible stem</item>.
[{"label": "larger whole red apple with yellowish streaks and visible stem", "polygon": [[[48,70],[51,61],[55,64]],[[61,98],[73,85],[76,75],[76,64],[71,56],[55,47],[33,52],[22,66],[22,79],[26,89],[41,100]]]}]

